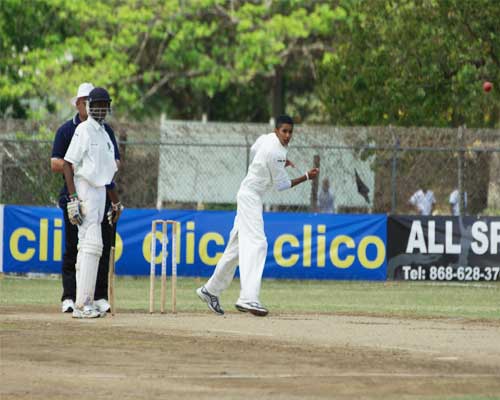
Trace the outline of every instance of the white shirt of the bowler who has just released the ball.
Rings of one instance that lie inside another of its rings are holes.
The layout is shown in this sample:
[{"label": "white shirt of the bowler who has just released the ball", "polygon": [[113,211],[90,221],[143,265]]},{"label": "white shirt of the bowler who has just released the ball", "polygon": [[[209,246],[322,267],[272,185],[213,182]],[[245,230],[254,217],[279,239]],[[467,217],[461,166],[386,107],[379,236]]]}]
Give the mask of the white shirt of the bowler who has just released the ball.
[{"label": "white shirt of the bowler who has just released the ball", "polygon": [[260,136],[250,149],[251,163],[241,182],[240,191],[250,191],[263,196],[273,186],[285,190],[292,182],[285,171],[287,148],[276,133]]}]

